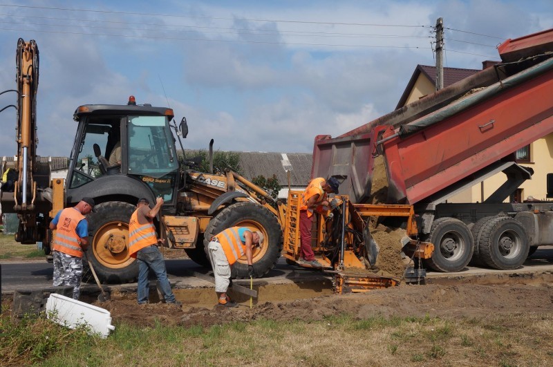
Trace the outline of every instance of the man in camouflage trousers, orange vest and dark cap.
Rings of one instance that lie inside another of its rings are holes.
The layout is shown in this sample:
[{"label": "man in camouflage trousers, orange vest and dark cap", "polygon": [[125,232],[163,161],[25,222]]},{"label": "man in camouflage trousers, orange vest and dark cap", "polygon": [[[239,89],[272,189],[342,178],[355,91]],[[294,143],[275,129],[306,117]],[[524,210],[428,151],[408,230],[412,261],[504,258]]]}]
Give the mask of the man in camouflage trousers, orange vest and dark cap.
[{"label": "man in camouflage trousers, orange vest and dark cap", "polygon": [[73,299],[79,299],[82,256],[88,247],[88,222],[84,216],[94,211],[94,205],[93,198],[82,198],[75,207],[58,211],[49,226],[56,230],[52,246],[53,285],[73,287]]}]

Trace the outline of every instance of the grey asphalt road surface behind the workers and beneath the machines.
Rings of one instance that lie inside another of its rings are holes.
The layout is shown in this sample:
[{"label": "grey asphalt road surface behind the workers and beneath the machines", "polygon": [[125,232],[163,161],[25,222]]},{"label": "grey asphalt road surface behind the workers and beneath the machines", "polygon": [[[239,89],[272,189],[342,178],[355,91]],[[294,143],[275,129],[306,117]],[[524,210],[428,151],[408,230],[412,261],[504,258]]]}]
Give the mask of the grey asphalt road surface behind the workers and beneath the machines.
[{"label": "grey asphalt road surface behind the workers and beneath the machines", "polygon": [[[209,286],[209,283],[201,279],[189,276],[189,272],[205,272],[205,268],[200,267],[191,260],[167,260],[167,274],[171,283],[181,288],[193,288],[194,286]],[[41,290],[52,286],[53,265],[46,261],[35,261],[28,263],[0,263],[1,265],[1,292],[9,294],[14,290]],[[553,246],[541,247],[517,270],[504,271],[512,272],[553,272]],[[502,272],[500,270],[491,270],[480,267],[467,267],[459,273],[438,273],[427,272],[427,279],[451,277],[456,274],[489,274]],[[277,266],[262,279],[256,279],[256,282],[263,283],[285,283],[289,281],[316,281],[326,278],[329,275],[321,272],[305,270],[301,267],[288,265],[284,258],[280,258]],[[239,283],[239,282],[238,282]],[[121,285],[126,288],[135,287],[134,284]],[[95,287],[95,285],[91,285]]]}]

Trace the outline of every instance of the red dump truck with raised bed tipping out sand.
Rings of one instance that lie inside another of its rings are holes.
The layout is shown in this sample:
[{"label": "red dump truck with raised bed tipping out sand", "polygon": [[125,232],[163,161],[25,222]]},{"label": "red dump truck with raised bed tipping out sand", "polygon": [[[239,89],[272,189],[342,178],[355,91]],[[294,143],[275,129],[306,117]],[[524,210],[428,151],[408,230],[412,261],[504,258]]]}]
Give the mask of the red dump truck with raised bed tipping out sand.
[{"label": "red dump truck with raised bed tipping out sand", "polygon": [[[553,30],[498,51],[502,62],[492,68],[337,138],[315,138],[312,177],[341,178],[339,194],[353,204],[370,203],[375,158],[384,158],[385,204],[413,208],[411,239],[434,245],[425,259],[433,270],[456,272],[470,261],[515,269],[553,245],[553,202],[508,202],[533,173],[515,152],[553,133]],[[498,172],[507,180],[482,203],[447,203]]]}]

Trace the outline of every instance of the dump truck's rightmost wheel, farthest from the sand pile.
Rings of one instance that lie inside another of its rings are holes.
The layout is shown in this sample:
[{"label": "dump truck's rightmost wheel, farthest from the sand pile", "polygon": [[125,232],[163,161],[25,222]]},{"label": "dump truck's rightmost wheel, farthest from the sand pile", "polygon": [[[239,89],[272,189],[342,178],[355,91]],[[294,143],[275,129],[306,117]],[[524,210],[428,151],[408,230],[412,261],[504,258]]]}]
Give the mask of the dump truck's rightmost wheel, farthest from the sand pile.
[{"label": "dump truck's rightmost wheel, farthest from the sand pile", "polygon": [[489,267],[516,269],[528,257],[528,236],[518,220],[508,216],[490,218],[482,227],[478,252]]}]

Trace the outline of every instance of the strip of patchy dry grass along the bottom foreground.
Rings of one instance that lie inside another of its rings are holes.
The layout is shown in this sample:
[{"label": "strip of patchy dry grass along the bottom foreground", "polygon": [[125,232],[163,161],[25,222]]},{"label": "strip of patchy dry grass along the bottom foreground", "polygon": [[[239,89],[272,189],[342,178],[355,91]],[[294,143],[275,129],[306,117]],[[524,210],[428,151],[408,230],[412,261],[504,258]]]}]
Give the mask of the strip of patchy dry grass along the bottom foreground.
[{"label": "strip of patchy dry grass along the bottom foreground", "polygon": [[[6,365],[552,366],[553,316],[256,320],[210,328],[117,324],[107,339],[44,318],[3,317]],[[55,341],[55,342],[54,342]]]}]

